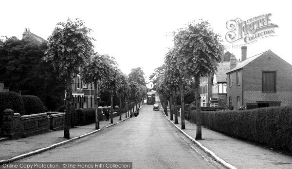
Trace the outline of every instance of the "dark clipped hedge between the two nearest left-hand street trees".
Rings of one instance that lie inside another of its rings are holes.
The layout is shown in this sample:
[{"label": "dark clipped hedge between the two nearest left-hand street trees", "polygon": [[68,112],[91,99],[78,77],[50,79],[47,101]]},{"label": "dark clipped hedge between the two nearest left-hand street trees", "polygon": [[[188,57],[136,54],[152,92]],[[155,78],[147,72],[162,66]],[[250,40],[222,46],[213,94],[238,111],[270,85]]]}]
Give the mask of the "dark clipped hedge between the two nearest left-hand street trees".
[{"label": "dark clipped hedge between the two nearest left-hand street trees", "polygon": [[86,125],[95,122],[94,108],[79,108],[76,109],[77,119],[79,125]]}]

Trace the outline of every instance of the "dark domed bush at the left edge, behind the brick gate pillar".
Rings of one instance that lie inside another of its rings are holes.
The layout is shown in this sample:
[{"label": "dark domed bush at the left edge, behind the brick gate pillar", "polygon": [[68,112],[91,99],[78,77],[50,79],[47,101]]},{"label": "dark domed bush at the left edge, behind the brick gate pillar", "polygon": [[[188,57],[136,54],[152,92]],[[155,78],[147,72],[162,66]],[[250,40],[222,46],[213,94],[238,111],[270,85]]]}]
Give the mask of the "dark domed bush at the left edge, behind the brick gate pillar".
[{"label": "dark domed bush at the left edge, behind the brick gate pillar", "polygon": [[15,113],[19,113],[20,115],[24,115],[25,113],[21,96],[16,92],[0,92],[0,114],[6,108],[11,108]]}]

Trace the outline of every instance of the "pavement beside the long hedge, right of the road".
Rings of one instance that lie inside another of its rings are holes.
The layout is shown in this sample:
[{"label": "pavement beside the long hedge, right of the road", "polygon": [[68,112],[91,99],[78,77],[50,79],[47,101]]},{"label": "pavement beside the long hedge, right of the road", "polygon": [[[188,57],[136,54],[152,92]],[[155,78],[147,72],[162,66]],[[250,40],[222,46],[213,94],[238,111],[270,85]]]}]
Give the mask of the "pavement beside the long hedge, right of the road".
[{"label": "pavement beside the long hedge, right of the road", "polygon": [[[170,121],[169,108],[167,112],[168,116],[165,117]],[[180,117],[179,124],[170,122],[181,130]],[[186,129],[181,132],[228,169],[292,169],[292,156],[253,142],[228,137],[203,126],[203,139],[195,140],[196,127],[196,124],[185,120]]]}]

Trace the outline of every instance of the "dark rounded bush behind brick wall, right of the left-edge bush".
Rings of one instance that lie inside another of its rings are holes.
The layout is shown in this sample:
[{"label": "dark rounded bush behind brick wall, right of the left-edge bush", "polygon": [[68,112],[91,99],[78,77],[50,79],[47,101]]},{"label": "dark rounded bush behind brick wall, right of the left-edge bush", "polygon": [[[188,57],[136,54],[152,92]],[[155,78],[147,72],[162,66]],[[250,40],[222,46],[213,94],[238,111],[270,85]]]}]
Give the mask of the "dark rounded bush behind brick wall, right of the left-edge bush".
[{"label": "dark rounded bush behind brick wall, right of the left-edge bush", "polygon": [[22,95],[24,115],[44,113],[44,105],[40,98],[34,95]]}]

